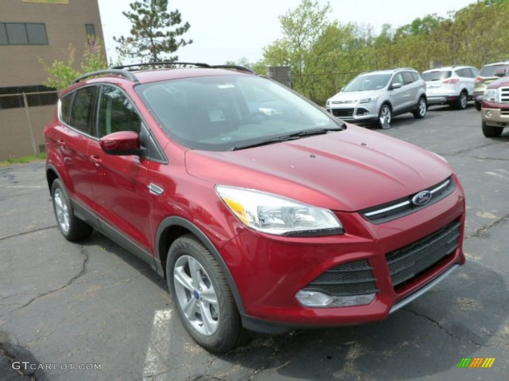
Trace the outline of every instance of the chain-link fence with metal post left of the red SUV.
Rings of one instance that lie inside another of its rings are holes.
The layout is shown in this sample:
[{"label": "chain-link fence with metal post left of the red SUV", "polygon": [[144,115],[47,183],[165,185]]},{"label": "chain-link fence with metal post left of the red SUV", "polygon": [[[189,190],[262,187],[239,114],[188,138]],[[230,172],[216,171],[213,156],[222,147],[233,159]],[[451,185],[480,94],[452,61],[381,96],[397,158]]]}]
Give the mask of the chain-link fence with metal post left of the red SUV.
[{"label": "chain-link fence with metal post left of the red SUV", "polygon": [[45,152],[44,128],[58,92],[0,94],[0,161]]}]

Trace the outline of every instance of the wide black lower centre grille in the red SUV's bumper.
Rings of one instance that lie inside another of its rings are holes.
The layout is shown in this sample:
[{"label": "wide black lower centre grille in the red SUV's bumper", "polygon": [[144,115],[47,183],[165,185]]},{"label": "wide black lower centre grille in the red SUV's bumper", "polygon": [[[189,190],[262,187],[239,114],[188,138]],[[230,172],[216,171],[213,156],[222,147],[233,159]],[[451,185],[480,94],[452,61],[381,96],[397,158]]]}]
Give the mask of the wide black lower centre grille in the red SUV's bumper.
[{"label": "wide black lower centre grille in the red SUV's bumper", "polygon": [[401,249],[385,255],[394,288],[409,281],[452,255],[460,245],[461,221],[455,220],[442,229]]}]

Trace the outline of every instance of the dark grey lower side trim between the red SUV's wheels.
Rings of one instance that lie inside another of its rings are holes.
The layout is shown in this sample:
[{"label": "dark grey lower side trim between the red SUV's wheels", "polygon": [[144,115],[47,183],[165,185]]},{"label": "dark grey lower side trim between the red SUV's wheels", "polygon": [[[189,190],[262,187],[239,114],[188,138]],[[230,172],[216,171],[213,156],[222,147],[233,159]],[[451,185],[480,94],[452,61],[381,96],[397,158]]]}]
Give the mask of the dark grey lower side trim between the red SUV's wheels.
[{"label": "dark grey lower side trim between the red SUV's wheels", "polygon": [[116,242],[127,251],[133,253],[140,260],[149,264],[152,270],[157,271],[155,259],[148,251],[138,246],[136,243],[127,238],[117,229],[109,225],[104,219],[97,216],[95,213],[92,213],[87,208],[79,204],[77,201],[71,200],[71,204],[74,209],[74,214],[78,218],[86,221],[88,224],[93,226],[95,229],[104,234],[106,237]]}]

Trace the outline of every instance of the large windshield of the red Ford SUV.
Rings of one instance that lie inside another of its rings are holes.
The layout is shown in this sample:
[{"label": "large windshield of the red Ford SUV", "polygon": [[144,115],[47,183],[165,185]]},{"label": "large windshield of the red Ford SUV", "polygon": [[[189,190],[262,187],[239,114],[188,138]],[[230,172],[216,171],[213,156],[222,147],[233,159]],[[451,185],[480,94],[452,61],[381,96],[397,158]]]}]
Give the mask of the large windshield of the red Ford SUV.
[{"label": "large windshield of the red Ford SUV", "polygon": [[226,151],[343,124],[263,77],[192,77],[136,86],[166,134],[191,149]]}]

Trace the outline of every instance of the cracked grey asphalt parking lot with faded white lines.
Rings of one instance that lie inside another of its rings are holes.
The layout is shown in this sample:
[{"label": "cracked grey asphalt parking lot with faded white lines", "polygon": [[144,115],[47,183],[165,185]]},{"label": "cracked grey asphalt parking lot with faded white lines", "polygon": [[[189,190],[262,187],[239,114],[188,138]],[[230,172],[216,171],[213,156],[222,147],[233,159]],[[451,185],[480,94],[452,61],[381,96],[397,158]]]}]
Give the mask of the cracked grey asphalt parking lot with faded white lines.
[{"label": "cracked grey asphalt parking lot with faded white lines", "polygon": [[[509,131],[485,138],[473,106],[377,131],[456,169],[467,263],[384,322],[257,335],[221,356],[186,334],[148,265],[96,232],[80,244],[61,236],[44,163],[0,168],[0,380],[506,381]],[[462,358],[495,361],[458,368]]]}]

